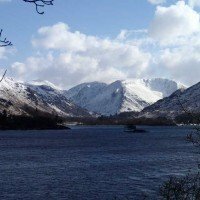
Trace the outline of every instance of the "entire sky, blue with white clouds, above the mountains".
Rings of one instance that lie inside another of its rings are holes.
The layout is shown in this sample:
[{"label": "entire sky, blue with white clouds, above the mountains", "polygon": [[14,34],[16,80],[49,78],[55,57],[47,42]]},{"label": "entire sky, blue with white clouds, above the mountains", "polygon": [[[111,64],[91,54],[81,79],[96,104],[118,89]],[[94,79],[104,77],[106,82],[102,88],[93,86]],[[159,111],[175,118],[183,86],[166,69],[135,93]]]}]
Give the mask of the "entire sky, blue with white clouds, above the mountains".
[{"label": "entire sky, blue with white clouds, above the mountains", "polygon": [[200,0],[0,0],[0,72],[61,88],[100,81],[200,77]]}]

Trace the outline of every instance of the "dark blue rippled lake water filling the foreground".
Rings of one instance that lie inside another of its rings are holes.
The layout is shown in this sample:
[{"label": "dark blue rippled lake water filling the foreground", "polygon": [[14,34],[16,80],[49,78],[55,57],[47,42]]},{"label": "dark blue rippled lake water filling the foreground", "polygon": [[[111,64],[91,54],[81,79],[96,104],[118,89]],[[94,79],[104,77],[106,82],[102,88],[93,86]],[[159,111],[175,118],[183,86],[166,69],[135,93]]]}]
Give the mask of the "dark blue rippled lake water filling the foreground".
[{"label": "dark blue rippled lake water filling the foreground", "polygon": [[75,127],[0,132],[0,199],[156,199],[170,175],[197,168],[190,129]]}]

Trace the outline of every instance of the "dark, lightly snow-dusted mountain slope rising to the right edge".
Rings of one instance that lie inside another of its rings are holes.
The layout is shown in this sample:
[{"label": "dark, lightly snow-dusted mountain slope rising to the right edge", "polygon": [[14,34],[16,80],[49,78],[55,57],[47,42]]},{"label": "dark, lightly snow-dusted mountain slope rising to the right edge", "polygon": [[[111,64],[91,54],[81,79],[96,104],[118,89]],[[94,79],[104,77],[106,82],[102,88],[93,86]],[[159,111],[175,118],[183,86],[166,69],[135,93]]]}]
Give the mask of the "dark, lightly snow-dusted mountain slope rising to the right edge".
[{"label": "dark, lightly snow-dusted mountain slope rising to the right edge", "polygon": [[200,113],[200,82],[188,89],[180,89],[171,96],[145,108],[141,117],[174,118],[183,113]]}]

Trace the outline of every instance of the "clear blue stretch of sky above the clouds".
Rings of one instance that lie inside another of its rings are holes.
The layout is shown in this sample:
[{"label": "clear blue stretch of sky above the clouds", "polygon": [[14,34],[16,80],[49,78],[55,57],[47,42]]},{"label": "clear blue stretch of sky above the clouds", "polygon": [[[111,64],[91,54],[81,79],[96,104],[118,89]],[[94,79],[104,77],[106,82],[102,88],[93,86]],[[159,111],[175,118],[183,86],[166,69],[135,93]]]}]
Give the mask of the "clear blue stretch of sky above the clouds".
[{"label": "clear blue stretch of sky above the clouds", "polygon": [[30,38],[40,27],[57,22],[100,37],[115,37],[121,29],[145,29],[155,6],[146,0],[55,0],[54,6],[42,10],[45,15],[38,15],[34,5],[20,0],[1,3],[1,27],[18,49],[22,43],[28,48]]}]

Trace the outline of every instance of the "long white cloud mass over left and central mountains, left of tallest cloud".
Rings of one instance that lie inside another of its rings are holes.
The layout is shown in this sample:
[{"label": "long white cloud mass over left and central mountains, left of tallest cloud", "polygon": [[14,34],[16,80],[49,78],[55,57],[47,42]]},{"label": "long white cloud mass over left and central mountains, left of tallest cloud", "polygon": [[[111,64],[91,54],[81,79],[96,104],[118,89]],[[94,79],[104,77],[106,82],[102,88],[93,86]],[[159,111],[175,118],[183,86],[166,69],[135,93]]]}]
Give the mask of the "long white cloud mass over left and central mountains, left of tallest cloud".
[{"label": "long white cloud mass over left and central mountains, left of tallest cloud", "polygon": [[151,59],[136,45],[73,32],[64,23],[42,27],[32,44],[43,53],[14,63],[13,73],[47,79],[64,88],[85,81],[141,77]]}]

